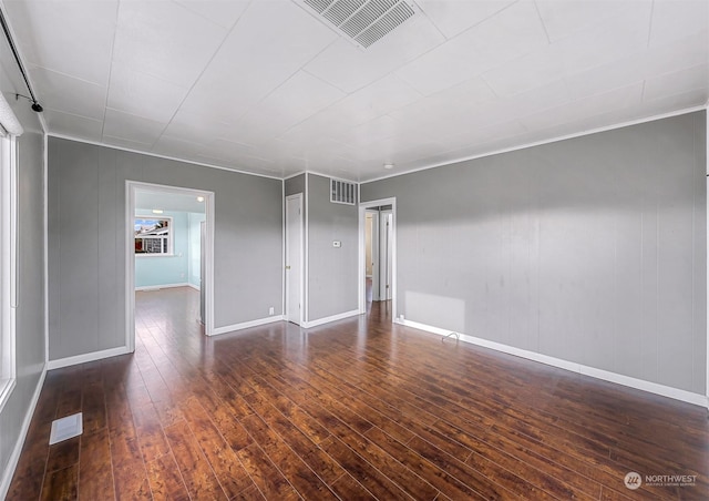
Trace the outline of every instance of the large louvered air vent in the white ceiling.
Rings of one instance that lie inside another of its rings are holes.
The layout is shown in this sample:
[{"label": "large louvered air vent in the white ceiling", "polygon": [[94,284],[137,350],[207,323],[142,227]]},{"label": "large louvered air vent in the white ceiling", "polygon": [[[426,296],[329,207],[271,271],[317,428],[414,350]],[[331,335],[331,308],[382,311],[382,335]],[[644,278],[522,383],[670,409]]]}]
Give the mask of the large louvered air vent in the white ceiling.
[{"label": "large louvered air vent in the white ceiling", "polygon": [[413,16],[410,0],[296,0],[367,49]]}]

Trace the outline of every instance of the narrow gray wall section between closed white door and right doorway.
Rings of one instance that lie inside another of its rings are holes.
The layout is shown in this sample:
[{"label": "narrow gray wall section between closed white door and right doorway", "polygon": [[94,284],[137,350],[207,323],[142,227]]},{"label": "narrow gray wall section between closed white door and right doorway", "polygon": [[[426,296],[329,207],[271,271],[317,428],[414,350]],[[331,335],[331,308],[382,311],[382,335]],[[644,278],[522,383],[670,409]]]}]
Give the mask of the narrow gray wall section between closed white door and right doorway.
[{"label": "narrow gray wall section between closed white door and right doorway", "polygon": [[[330,203],[330,180],[308,174],[308,320],[359,307],[357,206]],[[332,247],[340,241],[340,248]]]}]

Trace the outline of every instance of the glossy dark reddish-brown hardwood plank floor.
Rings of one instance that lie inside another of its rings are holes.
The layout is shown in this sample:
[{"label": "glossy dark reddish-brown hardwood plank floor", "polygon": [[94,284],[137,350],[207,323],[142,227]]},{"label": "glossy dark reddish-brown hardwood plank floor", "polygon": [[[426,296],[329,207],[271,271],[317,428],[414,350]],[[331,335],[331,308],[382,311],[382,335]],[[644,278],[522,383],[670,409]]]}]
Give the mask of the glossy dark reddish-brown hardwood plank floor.
[{"label": "glossy dark reddish-brown hardwood plank floor", "polygon": [[[135,354],[48,374],[9,499],[709,499],[706,409],[442,342],[386,303],[206,338],[195,292],[136,297]],[[670,474],[696,482],[646,482]]]}]

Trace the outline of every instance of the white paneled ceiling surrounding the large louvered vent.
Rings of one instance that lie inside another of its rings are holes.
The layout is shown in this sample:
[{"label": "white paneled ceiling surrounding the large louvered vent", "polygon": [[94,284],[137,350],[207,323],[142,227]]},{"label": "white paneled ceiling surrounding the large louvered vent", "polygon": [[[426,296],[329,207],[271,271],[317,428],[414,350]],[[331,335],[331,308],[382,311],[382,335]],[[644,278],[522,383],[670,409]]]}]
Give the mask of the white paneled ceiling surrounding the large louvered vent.
[{"label": "white paneled ceiling surrounding the large louvered vent", "polygon": [[707,0],[415,0],[368,50],[298,3],[2,0],[50,134],[277,177],[370,180],[709,99]]}]

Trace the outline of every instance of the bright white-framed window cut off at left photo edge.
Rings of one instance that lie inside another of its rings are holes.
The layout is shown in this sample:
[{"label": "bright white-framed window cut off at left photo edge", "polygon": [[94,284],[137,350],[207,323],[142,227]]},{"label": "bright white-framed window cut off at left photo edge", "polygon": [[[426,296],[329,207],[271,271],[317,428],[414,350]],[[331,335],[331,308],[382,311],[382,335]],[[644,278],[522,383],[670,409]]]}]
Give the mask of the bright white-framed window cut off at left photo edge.
[{"label": "bright white-framed window cut off at left photo edge", "polygon": [[17,140],[0,134],[0,411],[17,384],[16,314],[18,307]]}]

